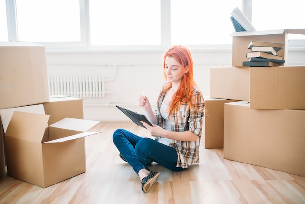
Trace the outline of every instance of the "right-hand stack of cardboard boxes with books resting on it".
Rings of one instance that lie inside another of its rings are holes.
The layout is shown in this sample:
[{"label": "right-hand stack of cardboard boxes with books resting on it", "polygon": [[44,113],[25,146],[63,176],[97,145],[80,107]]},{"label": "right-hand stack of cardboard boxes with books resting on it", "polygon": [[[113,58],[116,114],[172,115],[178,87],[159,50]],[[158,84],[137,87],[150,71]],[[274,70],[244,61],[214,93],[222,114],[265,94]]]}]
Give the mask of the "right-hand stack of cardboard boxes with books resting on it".
[{"label": "right-hand stack of cardboard boxes with books resting on it", "polygon": [[[305,176],[305,66],[243,67],[250,41],[285,43],[305,29],[237,32],[232,67],[210,69],[210,97],[224,104],[224,158]],[[207,108],[209,108],[207,104]]]}]

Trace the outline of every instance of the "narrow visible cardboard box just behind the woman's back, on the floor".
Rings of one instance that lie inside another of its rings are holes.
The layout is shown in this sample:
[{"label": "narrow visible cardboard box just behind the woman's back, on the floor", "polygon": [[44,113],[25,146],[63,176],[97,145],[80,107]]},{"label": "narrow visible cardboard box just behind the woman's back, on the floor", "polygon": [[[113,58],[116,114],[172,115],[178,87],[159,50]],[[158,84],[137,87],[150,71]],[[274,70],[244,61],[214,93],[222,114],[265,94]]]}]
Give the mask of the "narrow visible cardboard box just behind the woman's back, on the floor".
[{"label": "narrow visible cardboard box just behind the woman's back, on the floor", "polygon": [[236,100],[205,97],[206,112],[204,117],[205,148],[224,147],[224,104]]}]

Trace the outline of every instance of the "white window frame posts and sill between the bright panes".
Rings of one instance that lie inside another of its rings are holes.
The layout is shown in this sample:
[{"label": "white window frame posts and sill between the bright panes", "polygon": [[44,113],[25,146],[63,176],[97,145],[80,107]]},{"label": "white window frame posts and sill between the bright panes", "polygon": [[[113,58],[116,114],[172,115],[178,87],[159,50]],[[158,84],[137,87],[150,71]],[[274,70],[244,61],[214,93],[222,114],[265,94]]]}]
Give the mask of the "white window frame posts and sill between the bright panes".
[{"label": "white window frame posts and sill between the bright panes", "polygon": [[[39,42],[47,49],[81,49],[81,50],[126,50],[126,49],[165,49],[171,46],[171,0],[161,2],[161,45],[158,46],[91,46],[89,25],[89,0],[79,0],[80,3],[80,42]],[[252,0],[242,0],[242,12],[251,21]],[[16,20],[16,1],[6,0],[8,40],[18,41],[18,29]],[[231,45],[190,45],[193,49],[231,49]],[[289,47],[305,48],[305,40],[291,40]]]}]

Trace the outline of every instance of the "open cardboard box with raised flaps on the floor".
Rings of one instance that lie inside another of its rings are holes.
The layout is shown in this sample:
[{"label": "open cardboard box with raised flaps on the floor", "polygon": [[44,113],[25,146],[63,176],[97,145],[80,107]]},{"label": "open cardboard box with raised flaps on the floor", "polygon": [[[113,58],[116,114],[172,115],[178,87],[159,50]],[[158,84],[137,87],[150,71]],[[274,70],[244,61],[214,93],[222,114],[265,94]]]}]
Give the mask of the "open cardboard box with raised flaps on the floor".
[{"label": "open cardboard box with raised flaps on the floor", "polygon": [[48,187],[86,171],[85,132],[99,121],[15,111],[5,133],[8,176]]}]

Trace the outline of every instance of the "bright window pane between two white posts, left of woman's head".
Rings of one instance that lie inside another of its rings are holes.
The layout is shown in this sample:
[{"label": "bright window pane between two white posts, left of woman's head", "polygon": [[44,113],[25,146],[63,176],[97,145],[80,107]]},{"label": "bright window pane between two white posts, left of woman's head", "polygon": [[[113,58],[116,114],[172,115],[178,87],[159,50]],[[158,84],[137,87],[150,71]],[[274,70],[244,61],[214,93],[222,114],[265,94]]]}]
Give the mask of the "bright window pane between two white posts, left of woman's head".
[{"label": "bright window pane between two white posts, left of woman's head", "polygon": [[160,12],[160,0],[89,0],[91,45],[160,45]]}]

